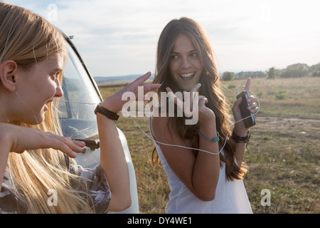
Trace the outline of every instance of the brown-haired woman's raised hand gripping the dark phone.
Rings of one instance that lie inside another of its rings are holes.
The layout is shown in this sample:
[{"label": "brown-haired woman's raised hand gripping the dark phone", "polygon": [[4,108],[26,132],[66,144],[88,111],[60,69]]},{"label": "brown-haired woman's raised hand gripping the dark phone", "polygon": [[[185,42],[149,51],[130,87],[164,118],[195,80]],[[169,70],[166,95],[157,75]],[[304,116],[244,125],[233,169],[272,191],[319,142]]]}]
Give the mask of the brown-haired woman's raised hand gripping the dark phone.
[{"label": "brown-haired woman's raised hand gripping the dark phone", "polygon": [[[251,78],[247,78],[247,83],[245,84],[245,90],[247,92],[250,91],[250,83]],[[235,104],[233,105],[233,117],[235,118],[235,122],[242,119],[242,115],[240,113],[239,105],[242,101],[242,98],[239,98],[238,100],[235,100]],[[250,110],[250,113],[255,114],[257,113],[258,107],[257,103],[255,103],[255,98],[253,96],[250,96],[247,98],[247,103],[250,103],[250,105],[247,107],[248,110]],[[245,137],[247,135],[247,132],[249,131],[249,128],[245,128],[245,123],[243,121],[240,121],[239,123],[235,124],[234,132],[236,135],[239,135],[240,137]]]}]

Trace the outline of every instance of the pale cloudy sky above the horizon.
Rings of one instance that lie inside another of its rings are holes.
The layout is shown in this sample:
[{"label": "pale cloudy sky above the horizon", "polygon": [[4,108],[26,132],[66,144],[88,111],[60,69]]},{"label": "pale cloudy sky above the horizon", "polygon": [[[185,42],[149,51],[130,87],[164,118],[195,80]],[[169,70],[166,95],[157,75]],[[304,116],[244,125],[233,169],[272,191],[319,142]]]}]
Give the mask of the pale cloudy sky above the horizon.
[{"label": "pale cloudy sky above the horizon", "polygon": [[317,0],[12,0],[48,19],[78,47],[92,76],[154,73],[156,43],[171,21],[205,28],[218,70],[267,71],[320,62]]}]

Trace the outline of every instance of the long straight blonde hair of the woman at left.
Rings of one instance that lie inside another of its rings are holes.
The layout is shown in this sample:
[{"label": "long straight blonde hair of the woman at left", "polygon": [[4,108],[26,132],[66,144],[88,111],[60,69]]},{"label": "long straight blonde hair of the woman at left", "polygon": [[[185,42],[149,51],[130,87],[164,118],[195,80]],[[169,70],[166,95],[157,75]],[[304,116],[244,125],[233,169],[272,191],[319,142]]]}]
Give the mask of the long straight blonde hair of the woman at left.
[{"label": "long straight blonde hair of the woman at left", "polygon": [[[13,60],[17,66],[28,69],[56,53],[67,55],[63,34],[41,16],[31,11],[0,2],[0,64]],[[62,73],[60,73],[60,81]],[[61,134],[55,107],[48,107],[45,120],[39,125],[16,121],[16,125],[38,128]],[[70,165],[77,168],[75,162]],[[10,152],[7,162],[9,180],[14,194],[23,200],[29,213],[89,213],[92,200],[88,192],[76,190],[71,185],[85,185],[80,177],[69,172],[63,152],[44,149],[28,150],[21,154]],[[58,195],[56,206],[48,205],[49,190]]]}]

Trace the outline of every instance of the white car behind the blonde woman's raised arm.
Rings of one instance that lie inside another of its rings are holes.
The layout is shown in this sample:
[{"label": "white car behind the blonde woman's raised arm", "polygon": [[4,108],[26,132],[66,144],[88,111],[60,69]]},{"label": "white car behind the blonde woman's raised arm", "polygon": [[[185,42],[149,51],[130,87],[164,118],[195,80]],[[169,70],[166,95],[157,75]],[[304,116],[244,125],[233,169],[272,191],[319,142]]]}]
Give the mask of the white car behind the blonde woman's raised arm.
[{"label": "white car behind the blonde woman's raised arm", "polygon": [[[68,59],[63,69],[63,98],[58,110],[63,135],[86,143],[85,151],[76,157],[82,167],[95,167],[100,163],[100,142],[97,130],[95,107],[102,102],[102,96],[90,73],[82,61],[77,48],[71,41],[73,36],[65,36],[68,43]],[[132,206],[120,213],[139,213],[137,182],[127,139],[118,128],[122,147],[129,168]],[[110,212],[113,213],[113,212]]]}]

